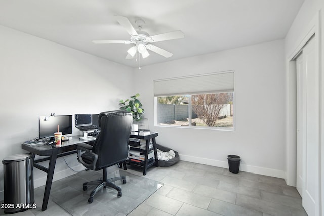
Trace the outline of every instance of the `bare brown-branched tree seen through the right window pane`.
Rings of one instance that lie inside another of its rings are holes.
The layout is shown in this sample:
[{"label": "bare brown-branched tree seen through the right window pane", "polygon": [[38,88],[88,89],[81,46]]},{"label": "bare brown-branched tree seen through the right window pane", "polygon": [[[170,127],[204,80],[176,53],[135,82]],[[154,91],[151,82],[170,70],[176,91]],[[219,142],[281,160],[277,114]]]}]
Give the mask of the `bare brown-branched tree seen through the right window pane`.
[{"label": "bare brown-branched tree seen through the right window pane", "polygon": [[213,93],[191,96],[193,111],[209,127],[216,126],[222,108],[232,102],[232,93]]}]

